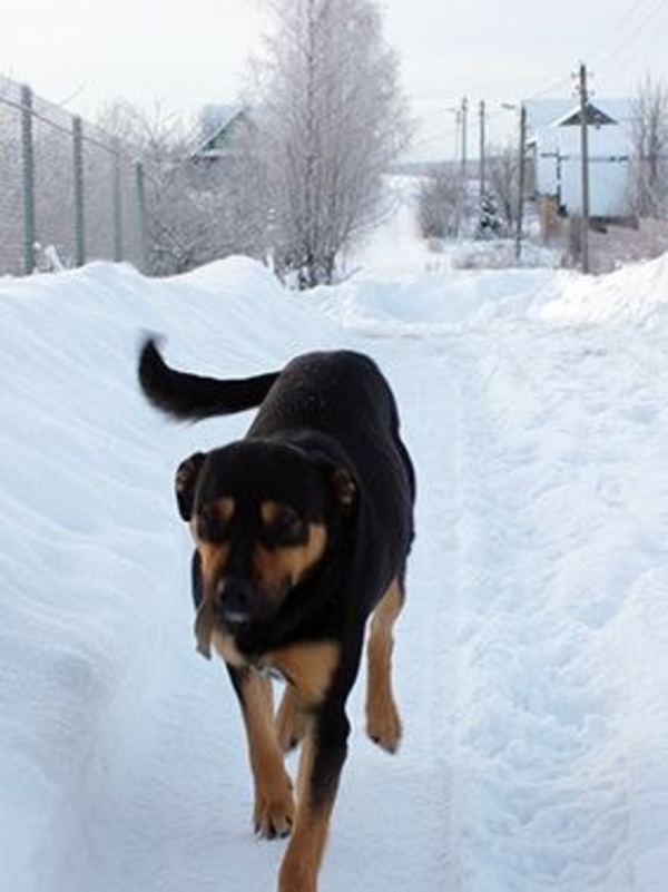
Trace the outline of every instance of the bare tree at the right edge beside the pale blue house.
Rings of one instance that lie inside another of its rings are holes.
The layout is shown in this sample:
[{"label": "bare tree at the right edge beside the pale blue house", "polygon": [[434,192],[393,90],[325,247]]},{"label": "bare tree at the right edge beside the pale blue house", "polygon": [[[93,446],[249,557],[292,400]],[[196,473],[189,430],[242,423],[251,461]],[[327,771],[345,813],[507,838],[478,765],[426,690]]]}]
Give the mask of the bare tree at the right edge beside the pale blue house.
[{"label": "bare tree at the right edge beside the pale blue house", "polygon": [[632,105],[632,204],[640,216],[658,217],[668,199],[668,89],[647,77]]}]

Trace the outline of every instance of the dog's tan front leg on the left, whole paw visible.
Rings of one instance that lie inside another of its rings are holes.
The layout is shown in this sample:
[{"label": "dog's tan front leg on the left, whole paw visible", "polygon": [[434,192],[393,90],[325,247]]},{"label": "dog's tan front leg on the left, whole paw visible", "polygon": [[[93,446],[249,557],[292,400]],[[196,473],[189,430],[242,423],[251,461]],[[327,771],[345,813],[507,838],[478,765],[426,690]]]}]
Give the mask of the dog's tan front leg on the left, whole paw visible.
[{"label": "dog's tan front leg on the left, whole paw visible", "polygon": [[272,682],[254,669],[227,667],[242,706],[255,785],[253,814],[261,836],[287,836],[294,816],[289,777],[274,723]]}]

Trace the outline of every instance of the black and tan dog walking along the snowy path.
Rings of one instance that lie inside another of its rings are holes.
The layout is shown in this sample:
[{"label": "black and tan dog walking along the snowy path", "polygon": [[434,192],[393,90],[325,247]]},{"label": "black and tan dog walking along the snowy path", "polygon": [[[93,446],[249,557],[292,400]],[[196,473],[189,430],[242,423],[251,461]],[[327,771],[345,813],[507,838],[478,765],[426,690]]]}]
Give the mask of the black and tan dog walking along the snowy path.
[{"label": "black and tan dog walking along the snowy path", "polygon": [[[175,371],[147,341],[139,380],[178,419],[259,406],[245,439],[184,461],[199,650],[227,664],[255,782],[255,827],[292,833],[281,892],[313,892],[343,767],[345,705],[367,644],[367,733],[394,752],[392,628],[404,599],[415,481],[376,365],[310,353],[282,372],[219,381]],[[272,675],[286,682],[274,716]],[[284,752],[302,743],[296,807]]]}]

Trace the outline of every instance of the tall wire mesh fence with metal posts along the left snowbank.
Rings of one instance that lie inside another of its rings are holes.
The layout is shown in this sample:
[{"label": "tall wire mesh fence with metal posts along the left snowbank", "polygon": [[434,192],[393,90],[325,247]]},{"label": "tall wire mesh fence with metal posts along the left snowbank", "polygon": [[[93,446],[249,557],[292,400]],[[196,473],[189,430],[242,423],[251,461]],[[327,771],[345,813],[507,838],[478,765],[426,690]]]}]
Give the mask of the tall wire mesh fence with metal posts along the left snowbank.
[{"label": "tall wire mesh fence with metal posts along the left snowbank", "polygon": [[127,261],[148,272],[129,147],[0,77],[0,274]]}]

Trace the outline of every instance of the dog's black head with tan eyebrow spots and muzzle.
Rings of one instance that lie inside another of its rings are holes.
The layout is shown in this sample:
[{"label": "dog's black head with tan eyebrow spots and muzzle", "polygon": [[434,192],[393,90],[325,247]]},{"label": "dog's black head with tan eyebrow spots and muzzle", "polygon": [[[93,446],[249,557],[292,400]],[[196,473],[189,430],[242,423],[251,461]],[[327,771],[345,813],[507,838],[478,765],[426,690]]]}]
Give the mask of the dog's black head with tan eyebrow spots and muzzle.
[{"label": "dog's black head with tan eyebrow spots and muzzle", "polygon": [[196,548],[198,649],[209,656],[216,631],[271,620],[317,571],[357,488],[322,455],[246,440],[186,459],[176,497]]}]

